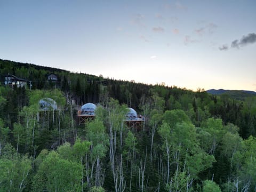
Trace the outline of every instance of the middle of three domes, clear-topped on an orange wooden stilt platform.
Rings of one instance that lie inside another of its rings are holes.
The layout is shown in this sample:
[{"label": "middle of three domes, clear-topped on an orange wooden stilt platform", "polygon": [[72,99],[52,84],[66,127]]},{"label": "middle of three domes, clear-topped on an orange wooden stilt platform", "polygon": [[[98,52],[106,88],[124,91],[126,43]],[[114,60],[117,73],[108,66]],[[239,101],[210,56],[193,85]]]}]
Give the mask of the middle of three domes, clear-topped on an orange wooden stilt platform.
[{"label": "middle of three domes, clear-topped on an orange wooden stilt platform", "polygon": [[93,103],[86,103],[81,107],[81,110],[78,110],[77,117],[78,117],[78,124],[84,124],[89,120],[95,118],[95,109],[97,108],[96,105]]}]

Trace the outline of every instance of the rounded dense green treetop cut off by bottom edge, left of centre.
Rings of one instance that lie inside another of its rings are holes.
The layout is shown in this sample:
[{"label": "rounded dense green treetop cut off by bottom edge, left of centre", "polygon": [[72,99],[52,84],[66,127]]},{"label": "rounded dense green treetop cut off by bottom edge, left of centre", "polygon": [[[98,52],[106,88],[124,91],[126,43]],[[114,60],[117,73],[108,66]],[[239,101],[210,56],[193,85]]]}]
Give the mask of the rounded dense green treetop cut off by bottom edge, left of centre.
[{"label": "rounded dense green treetop cut off by bottom edge, left of centre", "polygon": [[55,151],[46,155],[33,179],[33,191],[81,191],[80,165]]}]

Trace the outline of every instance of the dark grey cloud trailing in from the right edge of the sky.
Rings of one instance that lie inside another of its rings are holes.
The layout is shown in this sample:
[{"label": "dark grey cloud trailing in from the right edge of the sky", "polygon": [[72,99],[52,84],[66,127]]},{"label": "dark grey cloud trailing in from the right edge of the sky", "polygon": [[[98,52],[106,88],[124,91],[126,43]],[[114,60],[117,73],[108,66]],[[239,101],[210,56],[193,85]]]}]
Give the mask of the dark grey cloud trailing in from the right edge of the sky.
[{"label": "dark grey cloud trailing in from the right edge of the sky", "polygon": [[[246,46],[248,44],[253,44],[253,43],[256,43],[256,34],[255,33],[244,35],[240,40],[235,39],[233,42],[231,42],[230,47],[239,49],[239,47],[241,47],[241,46]],[[228,47],[227,47],[227,45],[225,45],[225,46],[222,45],[221,47],[219,47],[219,50],[220,51],[228,50]]]}]

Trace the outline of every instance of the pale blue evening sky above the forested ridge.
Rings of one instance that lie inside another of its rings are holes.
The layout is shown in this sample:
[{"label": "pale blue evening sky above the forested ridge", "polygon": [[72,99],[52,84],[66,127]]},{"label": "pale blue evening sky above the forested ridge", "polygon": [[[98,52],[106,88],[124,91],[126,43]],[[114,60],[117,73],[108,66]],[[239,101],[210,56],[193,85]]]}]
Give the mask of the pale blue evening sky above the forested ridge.
[{"label": "pale blue evening sky above the forested ridge", "polygon": [[255,91],[255,8],[255,0],[0,0],[0,59]]}]

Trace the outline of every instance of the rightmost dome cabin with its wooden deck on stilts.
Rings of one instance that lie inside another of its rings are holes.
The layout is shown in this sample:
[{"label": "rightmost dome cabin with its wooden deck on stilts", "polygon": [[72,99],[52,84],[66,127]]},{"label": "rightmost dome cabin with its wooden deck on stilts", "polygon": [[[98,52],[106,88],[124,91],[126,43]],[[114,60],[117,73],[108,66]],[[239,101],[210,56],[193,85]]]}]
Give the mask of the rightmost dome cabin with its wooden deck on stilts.
[{"label": "rightmost dome cabin with its wooden deck on stilts", "polygon": [[133,108],[127,108],[128,112],[125,116],[125,124],[130,127],[131,129],[135,129],[137,131],[140,131],[143,127],[143,124],[145,122],[144,117],[141,115],[138,116],[137,112]]}]

